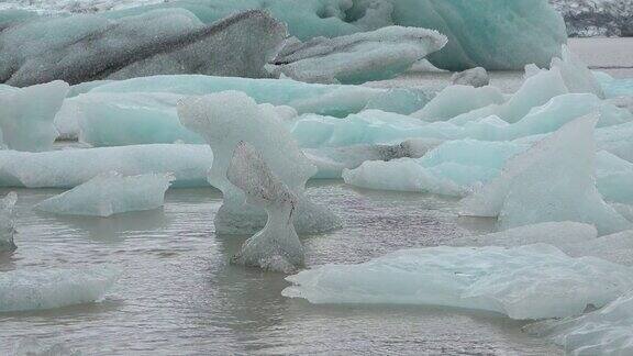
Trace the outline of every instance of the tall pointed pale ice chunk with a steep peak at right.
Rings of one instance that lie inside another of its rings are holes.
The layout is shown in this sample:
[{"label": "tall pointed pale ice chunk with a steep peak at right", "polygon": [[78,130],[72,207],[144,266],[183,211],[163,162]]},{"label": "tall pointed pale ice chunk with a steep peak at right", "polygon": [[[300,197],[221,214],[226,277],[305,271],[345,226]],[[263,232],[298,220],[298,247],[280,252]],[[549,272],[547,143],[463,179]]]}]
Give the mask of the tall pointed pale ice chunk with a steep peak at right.
[{"label": "tall pointed pale ice chunk with a steep peak at right", "polygon": [[463,214],[498,216],[502,229],[545,221],[592,223],[600,234],[630,229],[596,188],[596,122],[595,115],[573,121],[510,159],[463,201]]}]

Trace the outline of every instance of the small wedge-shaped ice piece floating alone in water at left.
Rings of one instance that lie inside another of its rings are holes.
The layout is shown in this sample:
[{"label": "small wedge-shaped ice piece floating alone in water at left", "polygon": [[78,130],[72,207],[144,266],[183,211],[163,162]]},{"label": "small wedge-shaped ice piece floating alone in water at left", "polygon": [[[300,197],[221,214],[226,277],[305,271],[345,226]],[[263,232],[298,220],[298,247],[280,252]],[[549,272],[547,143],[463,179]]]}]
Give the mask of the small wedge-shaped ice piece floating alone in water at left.
[{"label": "small wedge-shaped ice piece floating alone in water at left", "polygon": [[36,208],[56,214],[101,218],[129,211],[153,210],[163,207],[165,192],[174,179],[170,174],[125,177],[110,171],[46,199]]}]

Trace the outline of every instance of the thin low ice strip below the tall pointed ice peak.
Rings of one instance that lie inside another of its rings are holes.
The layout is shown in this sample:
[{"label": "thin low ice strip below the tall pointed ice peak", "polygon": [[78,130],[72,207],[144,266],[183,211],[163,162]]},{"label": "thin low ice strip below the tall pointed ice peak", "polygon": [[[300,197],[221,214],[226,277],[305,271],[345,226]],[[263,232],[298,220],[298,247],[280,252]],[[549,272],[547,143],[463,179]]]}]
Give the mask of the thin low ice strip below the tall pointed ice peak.
[{"label": "thin low ice strip below the tall pointed ice peak", "polygon": [[591,242],[598,236],[593,225],[573,221],[545,222],[514,227],[492,234],[465,236],[452,240],[452,246],[514,247],[532,244],[554,245],[565,253],[568,246]]}]

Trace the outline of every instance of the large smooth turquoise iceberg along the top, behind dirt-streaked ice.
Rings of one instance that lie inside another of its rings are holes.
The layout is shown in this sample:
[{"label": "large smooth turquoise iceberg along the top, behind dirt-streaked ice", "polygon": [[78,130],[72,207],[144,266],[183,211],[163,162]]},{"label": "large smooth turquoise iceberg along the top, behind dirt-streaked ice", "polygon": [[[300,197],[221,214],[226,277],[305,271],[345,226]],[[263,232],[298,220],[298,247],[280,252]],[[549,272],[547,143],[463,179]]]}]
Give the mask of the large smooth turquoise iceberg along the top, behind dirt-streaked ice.
[{"label": "large smooth turquoise iceberg along the top, behind dirt-streaked ice", "polygon": [[[288,24],[301,41],[336,37],[387,25],[432,29],[448,44],[430,56],[437,67],[464,70],[547,66],[567,40],[563,18],[546,0],[180,0],[106,13],[124,18],[162,8],[182,8],[204,23],[245,9],[263,9]],[[490,45],[495,44],[495,45]]]}]

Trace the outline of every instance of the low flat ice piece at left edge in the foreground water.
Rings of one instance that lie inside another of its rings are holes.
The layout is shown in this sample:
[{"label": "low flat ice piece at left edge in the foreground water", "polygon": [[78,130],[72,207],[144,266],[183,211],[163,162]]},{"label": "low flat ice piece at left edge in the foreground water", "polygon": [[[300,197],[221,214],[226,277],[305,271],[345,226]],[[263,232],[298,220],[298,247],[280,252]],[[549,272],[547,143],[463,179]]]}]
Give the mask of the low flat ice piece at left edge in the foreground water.
[{"label": "low flat ice piece at left edge in the foreground water", "polygon": [[0,312],[54,309],[99,301],[118,277],[119,271],[109,267],[0,272]]}]

